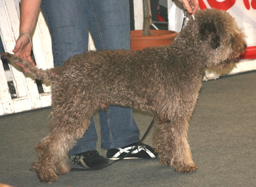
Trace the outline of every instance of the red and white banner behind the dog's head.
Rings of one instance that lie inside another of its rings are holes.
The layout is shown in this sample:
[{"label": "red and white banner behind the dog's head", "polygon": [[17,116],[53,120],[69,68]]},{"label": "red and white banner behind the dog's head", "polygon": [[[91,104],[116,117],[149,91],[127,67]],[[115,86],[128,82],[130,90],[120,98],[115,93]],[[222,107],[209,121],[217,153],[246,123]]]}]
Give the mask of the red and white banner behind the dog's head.
[{"label": "red and white banner behind the dog's head", "polygon": [[256,58],[256,0],[199,0],[199,7],[228,11],[247,36],[248,47],[240,58]]}]

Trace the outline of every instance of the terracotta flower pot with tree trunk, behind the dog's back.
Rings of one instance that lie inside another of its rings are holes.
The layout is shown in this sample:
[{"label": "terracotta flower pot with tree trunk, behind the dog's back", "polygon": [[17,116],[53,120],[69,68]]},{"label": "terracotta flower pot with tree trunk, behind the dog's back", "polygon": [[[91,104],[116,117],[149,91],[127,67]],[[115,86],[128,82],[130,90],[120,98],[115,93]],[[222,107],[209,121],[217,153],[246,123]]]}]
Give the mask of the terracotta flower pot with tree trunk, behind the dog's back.
[{"label": "terracotta flower pot with tree trunk, behind the dog's back", "polygon": [[142,50],[150,46],[170,45],[177,32],[170,30],[151,30],[154,35],[142,36],[142,30],[131,31],[131,50]]}]

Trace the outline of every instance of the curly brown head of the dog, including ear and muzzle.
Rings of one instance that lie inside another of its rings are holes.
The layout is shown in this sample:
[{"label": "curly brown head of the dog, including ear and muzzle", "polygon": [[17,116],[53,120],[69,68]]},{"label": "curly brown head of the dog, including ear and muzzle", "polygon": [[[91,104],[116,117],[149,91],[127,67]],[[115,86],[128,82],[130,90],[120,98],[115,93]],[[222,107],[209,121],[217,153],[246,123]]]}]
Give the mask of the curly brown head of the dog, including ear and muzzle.
[{"label": "curly brown head of the dog, including ear and muzzle", "polygon": [[191,18],[188,24],[193,28],[190,32],[198,40],[194,42],[200,45],[201,52],[207,59],[206,66],[220,69],[229,67],[247,46],[245,35],[226,11],[197,11],[195,20]]}]

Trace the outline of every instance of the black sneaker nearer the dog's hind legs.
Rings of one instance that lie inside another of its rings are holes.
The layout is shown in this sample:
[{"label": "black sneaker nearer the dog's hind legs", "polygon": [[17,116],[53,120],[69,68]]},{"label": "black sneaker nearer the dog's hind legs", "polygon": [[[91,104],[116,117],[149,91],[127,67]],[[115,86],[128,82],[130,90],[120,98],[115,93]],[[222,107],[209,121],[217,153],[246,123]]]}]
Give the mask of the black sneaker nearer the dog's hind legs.
[{"label": "black sneaker nearer the dog's hind legs", "polygon": [[98,151],[86,151],[69,156],[72,163],[84,167],[84,170],[99,170],[108,165],[108,159],[100,156]]}]

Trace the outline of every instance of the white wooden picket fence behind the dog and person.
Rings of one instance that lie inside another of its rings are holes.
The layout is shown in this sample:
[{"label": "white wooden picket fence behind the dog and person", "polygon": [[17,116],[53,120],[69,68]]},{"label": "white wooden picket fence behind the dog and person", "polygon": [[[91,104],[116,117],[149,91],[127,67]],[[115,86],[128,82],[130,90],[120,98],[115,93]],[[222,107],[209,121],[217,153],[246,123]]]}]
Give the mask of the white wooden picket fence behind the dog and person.
[{"label": "white wooden picket fence behind the dog and person", "polygon": [[[168,0],[169,10],[170,4],[172,4],[172,0]],[[142,0],[134,0],[134,18],[135,29],[142,29]],[[0,35],[6,52],[12,52],[14,49],[15,41],[19,36],[19,20],[19,0],[0,0]],[[42,69],[52,68],[51,36],[41,12],[33,35],[33,44],[36,66]],[[88,45],[89,50],[95,49],[91,36]],[[207,70],[204,80],[217,78],[223,74],[256,69],[255,64],[255,61],[247,61],[247,64],[243,62],[236,65],[238,68],[233,67],[226,72]],[[9,68],[10,70],[4,70],[3,64],[0,62],[0,115],[51,105],[50,83],[43,82],[44,93],[39,93],[35,80],[29,74],[23,74],[20,67],[12,62],[10,62]],[[11,97],[7,82],[13,82],[17,97]]]}]

